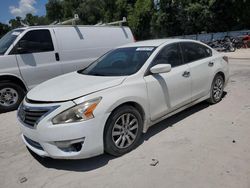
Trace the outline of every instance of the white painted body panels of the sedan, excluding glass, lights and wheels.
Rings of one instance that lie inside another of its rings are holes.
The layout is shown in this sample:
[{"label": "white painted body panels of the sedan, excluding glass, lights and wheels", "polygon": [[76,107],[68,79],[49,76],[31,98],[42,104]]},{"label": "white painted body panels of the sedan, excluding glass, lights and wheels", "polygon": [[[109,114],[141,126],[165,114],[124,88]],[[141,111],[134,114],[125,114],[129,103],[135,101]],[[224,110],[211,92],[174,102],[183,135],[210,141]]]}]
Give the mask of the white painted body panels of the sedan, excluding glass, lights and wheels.
[{"label": "white painted body panels of the sedan, excluding glass, lights and wheels", "polygon": [[[223,55],[206,45],[204,46],[212,51],[211,57],[173,67],[167,73],[147,74],[151,62],[165,46],[182,42],[204,45],[197,41],[180,39],[149,40],[128,44],[120,48],[156,47],[135,74],[102,77],[74,72],[38,85],[28,93],[28,100],[24,100],[23,106],[31,109],[58,107],[41,118],[33,128],[27,126],[18,115],[25,144],[40,156],[64,159],[88,158],[104,152],[103,133],[106,121],[112,111],[124,103],[137,103],[142,108],[145,133],[153,124],[208,99],[214,76],[218,72],[223,73],[226,84],[229,69]],[[208,65],[210,62],[213,62],[213,66]],[[184,77],[185,71],[189,71],[190,76]],[[52,119],[56,115],[97,97],[102,97],[102,100],[94,110],[93,119],[52,124]],[[24,135],[39,143],[43,149],[34,147]],[[55,144],[57,141],[81,138],[84,138],[84,143],[78,152],[63,151]]]}]

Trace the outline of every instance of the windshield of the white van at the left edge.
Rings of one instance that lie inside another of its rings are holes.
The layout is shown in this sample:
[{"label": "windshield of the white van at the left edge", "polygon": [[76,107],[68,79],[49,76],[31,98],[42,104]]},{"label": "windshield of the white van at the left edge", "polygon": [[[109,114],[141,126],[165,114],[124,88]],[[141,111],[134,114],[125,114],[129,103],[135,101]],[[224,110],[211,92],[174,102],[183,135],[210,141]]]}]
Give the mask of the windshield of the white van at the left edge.
[{"label": "windshield of the white van at the left edge", "polygon": [[10,45],[16,40],[18,35],[23,32],[23,29],[16,29],[8,32],[0,39],[0,55],[3,55],[10,47]]}]

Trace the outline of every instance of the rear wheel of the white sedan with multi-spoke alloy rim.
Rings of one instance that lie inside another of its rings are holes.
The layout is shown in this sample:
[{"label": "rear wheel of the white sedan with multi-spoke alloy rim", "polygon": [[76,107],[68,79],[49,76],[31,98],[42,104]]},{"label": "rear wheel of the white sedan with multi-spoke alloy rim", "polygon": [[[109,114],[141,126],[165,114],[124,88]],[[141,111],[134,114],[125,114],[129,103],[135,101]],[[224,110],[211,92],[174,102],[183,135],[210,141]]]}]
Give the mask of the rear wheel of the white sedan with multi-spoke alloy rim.
[{"label": "rear wheel of the white sedan with multi-spoke alloy rim", "polygon": [[213,83],[210,89],[210,98],[208,102],[211,104],[216,104],[221,101],[225,81],[220,74],[215,75]]}]

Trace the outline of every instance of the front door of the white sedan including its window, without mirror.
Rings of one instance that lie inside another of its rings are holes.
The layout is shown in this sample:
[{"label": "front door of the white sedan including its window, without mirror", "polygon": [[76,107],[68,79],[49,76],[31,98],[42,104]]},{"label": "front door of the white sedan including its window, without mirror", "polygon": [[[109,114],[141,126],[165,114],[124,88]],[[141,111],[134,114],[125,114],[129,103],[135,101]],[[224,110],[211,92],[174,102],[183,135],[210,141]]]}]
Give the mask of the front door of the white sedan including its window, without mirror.
[{"label": "front door of the white sedan including its window, without mirror", "polygon": [[171,64],[172,70],[144,77],[152,121],[191,102],[189,67],[183,64],[179,43],[164,47],[150,67],[157,64]]}]

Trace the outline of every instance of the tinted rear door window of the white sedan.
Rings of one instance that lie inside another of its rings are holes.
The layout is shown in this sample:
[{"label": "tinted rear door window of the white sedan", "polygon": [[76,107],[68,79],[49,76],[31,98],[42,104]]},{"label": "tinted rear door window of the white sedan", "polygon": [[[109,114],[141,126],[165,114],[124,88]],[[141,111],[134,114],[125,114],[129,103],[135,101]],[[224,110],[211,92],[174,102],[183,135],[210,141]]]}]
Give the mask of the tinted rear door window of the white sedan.
[{"label": "tinted rear door window of the white sedan", "polygon": [[198,43],[183,42],[181,43],[181,49],[185,63],[190,63],[212,56],[211,49]]}]

